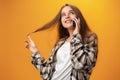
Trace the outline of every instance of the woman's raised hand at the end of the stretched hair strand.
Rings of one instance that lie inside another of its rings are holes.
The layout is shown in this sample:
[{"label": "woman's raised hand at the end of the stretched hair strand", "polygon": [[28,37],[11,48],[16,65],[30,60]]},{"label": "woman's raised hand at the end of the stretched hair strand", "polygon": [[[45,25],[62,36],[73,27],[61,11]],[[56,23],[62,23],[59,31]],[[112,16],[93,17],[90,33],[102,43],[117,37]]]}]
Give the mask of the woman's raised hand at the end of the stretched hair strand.
[{"label": "woman's raised hand at the end of the stretched hair strand", "polygon": [[34,43],[34,41],[31,39],[30,35],[27,35],[27,39],[25,40],[25,47],[29,49],[32,53],[38,52],[38,49]]}]

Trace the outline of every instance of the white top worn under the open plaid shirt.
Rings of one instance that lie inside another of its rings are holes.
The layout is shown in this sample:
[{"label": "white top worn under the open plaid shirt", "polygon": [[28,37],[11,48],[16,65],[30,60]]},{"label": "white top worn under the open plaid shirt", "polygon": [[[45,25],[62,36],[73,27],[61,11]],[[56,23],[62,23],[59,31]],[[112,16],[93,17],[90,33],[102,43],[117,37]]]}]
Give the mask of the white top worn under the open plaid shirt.
[{"label": "white top worn under the open plaid shirt", "polygon": [[55,72],[51,80],[70,80],[71,59],[70,59],[70,42],[65,42],[57,51],[57,62]]}]

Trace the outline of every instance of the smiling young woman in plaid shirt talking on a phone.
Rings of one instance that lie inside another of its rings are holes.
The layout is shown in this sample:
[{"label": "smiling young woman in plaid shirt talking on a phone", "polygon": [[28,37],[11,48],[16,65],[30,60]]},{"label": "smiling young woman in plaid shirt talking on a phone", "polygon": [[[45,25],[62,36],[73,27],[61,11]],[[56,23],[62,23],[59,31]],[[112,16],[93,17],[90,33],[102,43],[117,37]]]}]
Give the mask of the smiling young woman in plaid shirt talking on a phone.
[{"label": "smiling young woman in plaid shirt talking on a phone", "polygon": [[96,64],[98,41],[80,10],[64,5],[57,16],[35,32],[58,23],[59,40],[47,62],[28,35],[26,48],[32,51],[32,64],[40,71],[43,80],[89,80]]}]

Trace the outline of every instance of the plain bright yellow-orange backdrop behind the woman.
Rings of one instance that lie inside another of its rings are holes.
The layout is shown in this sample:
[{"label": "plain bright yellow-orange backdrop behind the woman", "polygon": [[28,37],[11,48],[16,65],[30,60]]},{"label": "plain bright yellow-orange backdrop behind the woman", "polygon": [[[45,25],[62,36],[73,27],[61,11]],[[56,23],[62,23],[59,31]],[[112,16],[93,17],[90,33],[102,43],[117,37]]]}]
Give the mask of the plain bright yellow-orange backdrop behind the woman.
[{"label": "plain bright yellow-orange backdrop behind the woman", "polygon": [[[0,0],[0,80],[42,80],[25,48],[26,34],[55,17],[65,3],[76,5],[99,38],[90,80],[120,80],[120,0]],[[32,34],[47,58],[56,29]]]}]

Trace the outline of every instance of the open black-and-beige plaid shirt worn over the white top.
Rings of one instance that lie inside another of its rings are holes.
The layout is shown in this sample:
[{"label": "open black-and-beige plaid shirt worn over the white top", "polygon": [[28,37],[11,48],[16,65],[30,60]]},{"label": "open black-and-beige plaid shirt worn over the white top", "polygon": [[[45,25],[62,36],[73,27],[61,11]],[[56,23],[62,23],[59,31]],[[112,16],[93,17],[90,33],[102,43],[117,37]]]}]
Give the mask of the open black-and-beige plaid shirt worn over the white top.
[{"label": "open black-and-beige plaid shirt worn over the white top", "polygon": [[[57,50],[64,44],[66,39],[60,39],[52,49],[47,62],[39,52],[32,54],[32,64],[40,71],[43,80],[51,80],[55,71]],[[96,34],[85,38],[83,43],[80,34],[74,34],[70,41],[70,56],[72,62],[71,80],[89,80],[93,67],[96,64],[98,41]]]}]

